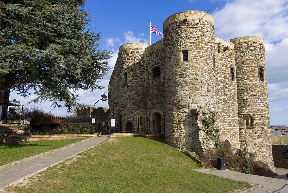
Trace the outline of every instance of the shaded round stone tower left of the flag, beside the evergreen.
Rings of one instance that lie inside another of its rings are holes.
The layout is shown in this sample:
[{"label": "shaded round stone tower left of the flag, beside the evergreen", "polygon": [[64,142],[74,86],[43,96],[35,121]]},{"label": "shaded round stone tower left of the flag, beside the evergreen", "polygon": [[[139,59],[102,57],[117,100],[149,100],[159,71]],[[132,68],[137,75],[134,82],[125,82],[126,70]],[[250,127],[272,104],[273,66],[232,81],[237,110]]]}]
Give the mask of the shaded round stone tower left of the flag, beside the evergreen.
[{"label": "shaded round stone tower left of the flag, beside the evergreen", "polygon": [[[119,48],[118,58],[115,64],[118,77],[118,89],[111,89],[111,99],[117,99],[115,103],[115,116],[136,116],[145,114],[145,57],[143,56],[147,43],[127,43]],[[113,71],[114,73],[114,71]],[[116,74],[116,72],[115,72]],[[110,86],[110,83],[109,83]],[[113,101],[112,101],[113,103]],[[113,108],[112,105],[109,105]]]}]

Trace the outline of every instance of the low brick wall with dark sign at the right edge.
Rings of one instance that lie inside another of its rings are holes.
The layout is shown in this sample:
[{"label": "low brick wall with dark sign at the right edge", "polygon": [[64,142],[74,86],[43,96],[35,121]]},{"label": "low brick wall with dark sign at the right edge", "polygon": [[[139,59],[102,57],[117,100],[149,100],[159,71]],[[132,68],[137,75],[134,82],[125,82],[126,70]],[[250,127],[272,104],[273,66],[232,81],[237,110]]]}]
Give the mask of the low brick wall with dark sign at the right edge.
[{"label": "low brick wall with dark sign at the right edge", "polygon": [[288,169],[288,145],[272,145],[275,167]]}]

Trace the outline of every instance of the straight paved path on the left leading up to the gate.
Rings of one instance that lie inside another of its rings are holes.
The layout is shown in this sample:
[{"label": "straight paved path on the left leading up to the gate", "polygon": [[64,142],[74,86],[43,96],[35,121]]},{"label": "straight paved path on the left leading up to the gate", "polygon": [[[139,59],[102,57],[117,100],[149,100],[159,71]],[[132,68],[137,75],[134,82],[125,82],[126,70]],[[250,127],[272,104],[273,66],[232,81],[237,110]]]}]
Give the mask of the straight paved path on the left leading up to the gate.
[{"label": "straight paved path on the left leading up to the gate", "polygon": [[[107,139],[108,136],[94,137],[84,140],[82,143],[70,145],[68,148],[60,148],[59,151],[35,158],[30,161],[23,160],[23,163],[11,166],[0,171],[0,191],[7,186],[23,181],[23,179],[39,173],[47,168],[58,164],[76,154],[79,154],[89,148],[96,146],[98,143]],[[81,141],[80,141],[81,142]]]}]

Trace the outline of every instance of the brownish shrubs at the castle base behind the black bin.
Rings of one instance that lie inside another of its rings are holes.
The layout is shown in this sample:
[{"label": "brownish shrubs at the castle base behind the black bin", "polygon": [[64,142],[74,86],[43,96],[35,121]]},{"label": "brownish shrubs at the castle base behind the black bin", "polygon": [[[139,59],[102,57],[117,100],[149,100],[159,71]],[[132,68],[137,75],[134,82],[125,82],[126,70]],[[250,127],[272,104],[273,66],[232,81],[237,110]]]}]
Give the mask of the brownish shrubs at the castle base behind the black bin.
[{"label": "brownish shrubs at the castle base behind the black bin", "polygon": [[255,155],[246,150],[235,150],[226,143],[221,143],[218,149],[210,149],[200,155],[202,164],[207,168],[217,168],[217,158],[227,158],[227,169],[241,173],[275,177],[269,166],[255,160]]}]

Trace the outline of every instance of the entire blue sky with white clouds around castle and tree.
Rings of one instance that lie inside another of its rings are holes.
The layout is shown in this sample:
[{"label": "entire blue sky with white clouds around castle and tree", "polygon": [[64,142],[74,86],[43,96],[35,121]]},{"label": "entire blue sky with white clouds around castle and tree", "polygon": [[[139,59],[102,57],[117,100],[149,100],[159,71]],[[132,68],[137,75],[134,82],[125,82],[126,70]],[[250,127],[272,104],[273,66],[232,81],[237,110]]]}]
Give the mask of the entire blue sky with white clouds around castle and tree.
[{"label": "entire blue sky with white clouds around castle and tree", "polygon": [[[100,83],[106,86],[94,92],[79,91],[79,103],[94,105],[101,94],[108,95],[108,83],[117,59],[118,48],[124,43],[149,43],[149,22],[163,33],[163,22],[170,15],[187,10],[208,12],[219,0],[89,0],[84,7],[94,20],[91,27],[102,31],[101,49],[112,48],[111,72]],[[288,0],[221,0],[210,12],[215,20],[215,36],[228,40],[243,36],[261,36],[265,40],[266,75],[271,125],[288,125]],[[162,39],[151,34],[151,43]],[[10,93],[10,100],[23,105],[34,99]],[[96,106],[107,107],[98,102]],[[52,109],[44,102],[40,107],[56,116],[66,109]]]}]

